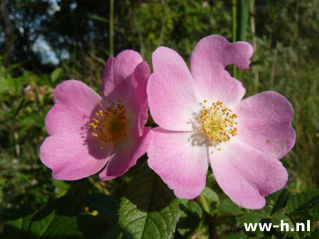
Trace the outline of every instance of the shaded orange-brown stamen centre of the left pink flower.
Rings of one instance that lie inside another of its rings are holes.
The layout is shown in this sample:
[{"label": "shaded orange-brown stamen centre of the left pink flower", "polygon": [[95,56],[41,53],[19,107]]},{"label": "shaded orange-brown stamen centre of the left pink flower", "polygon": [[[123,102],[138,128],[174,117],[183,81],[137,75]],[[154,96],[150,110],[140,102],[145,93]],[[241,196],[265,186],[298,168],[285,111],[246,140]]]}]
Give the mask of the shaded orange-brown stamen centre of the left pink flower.
[{"label": "shaded orange-brown stamen centre of the left pink flower", "polygon": [[121,100],[118,100],[117,104],[108,100],[110,106],[104,107],[101,103],[101,110],[98,110],[92,118],[92,122],[89,123],[89,127],[93,129],[92,136],[101,139],[103,144],[113,142],[114,146],[124,136],[126,136],[126,116],[125,107],[121,104]]}]

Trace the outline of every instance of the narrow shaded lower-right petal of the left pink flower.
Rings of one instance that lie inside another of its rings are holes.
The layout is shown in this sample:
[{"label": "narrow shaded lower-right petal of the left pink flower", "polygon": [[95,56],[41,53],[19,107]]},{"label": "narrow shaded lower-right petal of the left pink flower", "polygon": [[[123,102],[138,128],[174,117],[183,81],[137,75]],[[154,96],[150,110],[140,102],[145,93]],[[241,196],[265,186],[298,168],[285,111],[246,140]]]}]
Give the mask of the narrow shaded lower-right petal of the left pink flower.
[{"label": "narrow shaded lower-right petal of the left pink flower", "polygon": [[150,139],[150,127],[145,127],[142,136],[125,139],[122,144],[116,146],[106,168],[99,174],[100,179],[112,180],[123,175],[146,152]]}]

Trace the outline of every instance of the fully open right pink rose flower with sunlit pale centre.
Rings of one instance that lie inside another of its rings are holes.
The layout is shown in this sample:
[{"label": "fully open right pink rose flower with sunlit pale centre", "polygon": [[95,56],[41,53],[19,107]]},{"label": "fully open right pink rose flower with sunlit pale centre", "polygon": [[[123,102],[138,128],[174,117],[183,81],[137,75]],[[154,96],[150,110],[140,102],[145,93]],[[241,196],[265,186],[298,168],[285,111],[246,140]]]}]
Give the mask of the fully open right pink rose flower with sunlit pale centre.
[{"label": "fully open right pink rose flower with sunlit pale centre", "polygon": [[225,66],[248,69],[252,46],[224,37],[203,38],[191,54],[191,72],[177,52],[159,47],[147,86],[152,129],[148,164],[177,197],[203,190],[208,162],[225,194],[236,204],[260,209],[264,196],[288,179],[279,158],[295,142],[293,110],[273,91],[245,100],[245,88]]}]

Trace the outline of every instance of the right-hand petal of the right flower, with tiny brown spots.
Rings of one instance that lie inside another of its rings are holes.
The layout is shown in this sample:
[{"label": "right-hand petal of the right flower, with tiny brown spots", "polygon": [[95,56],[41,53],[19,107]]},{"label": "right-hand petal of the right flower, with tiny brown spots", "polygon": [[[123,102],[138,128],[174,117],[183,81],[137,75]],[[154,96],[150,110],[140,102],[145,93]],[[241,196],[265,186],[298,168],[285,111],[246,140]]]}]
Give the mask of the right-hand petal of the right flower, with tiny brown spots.
[{"label": "right-hand petal of the right flower, with tiny brown spots", "polygon": [[273,158],[282,158],[296,140],[292,117],[291,104],[279,93],[267,91],[253,95],[238,105],[237,139]]}]

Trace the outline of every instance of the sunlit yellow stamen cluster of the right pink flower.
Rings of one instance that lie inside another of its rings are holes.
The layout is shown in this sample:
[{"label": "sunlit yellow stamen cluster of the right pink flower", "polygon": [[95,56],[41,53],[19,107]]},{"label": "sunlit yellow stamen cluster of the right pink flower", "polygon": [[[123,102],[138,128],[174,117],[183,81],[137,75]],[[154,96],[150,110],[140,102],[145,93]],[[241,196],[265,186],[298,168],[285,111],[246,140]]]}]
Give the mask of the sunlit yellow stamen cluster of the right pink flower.
[{"label": "sunlit yellow stamen cluster of the right pink flower", "polygon": [[223,107],[223,103],[220,101],[212,103],[209,107],[206,107],[206,102],[207,100],[204,100],[203,110],[197,115],[197,119],[201,122],[201,129],[210,146],[229,141],[237,134],[235,127],[237,115],[233,114],[228,107]]}]

